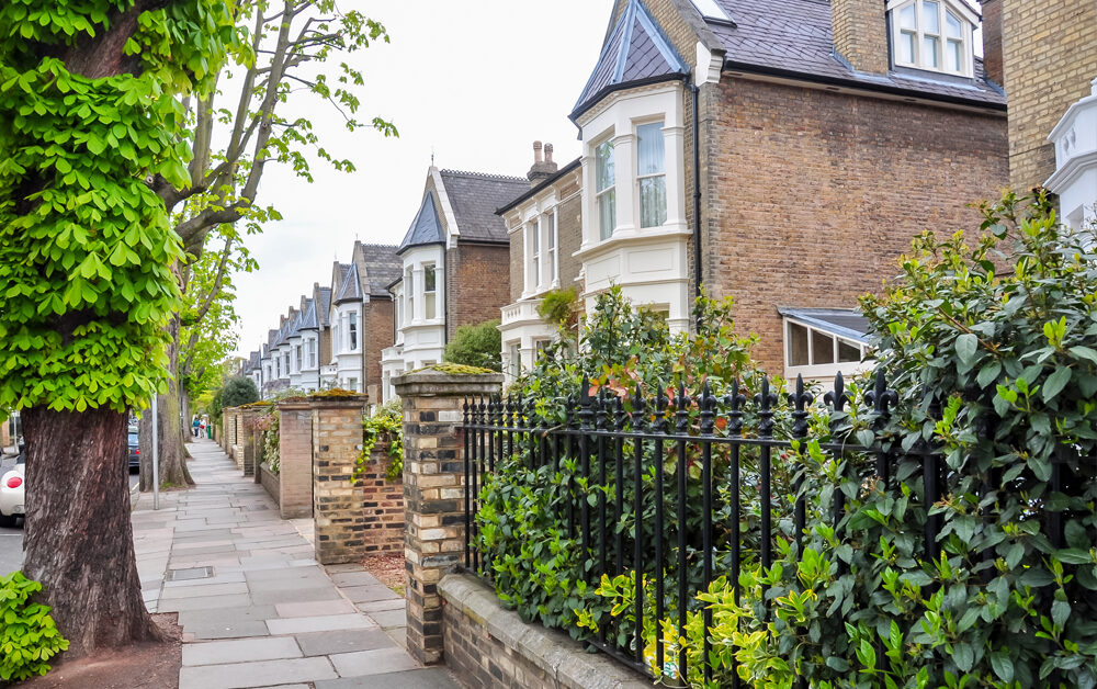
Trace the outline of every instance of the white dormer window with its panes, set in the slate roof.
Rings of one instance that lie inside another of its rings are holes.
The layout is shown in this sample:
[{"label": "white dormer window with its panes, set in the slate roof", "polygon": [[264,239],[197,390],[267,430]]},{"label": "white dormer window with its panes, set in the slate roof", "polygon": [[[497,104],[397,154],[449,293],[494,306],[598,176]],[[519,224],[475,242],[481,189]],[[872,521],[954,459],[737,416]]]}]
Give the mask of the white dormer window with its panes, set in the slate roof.
[{"label": "white dormer window with its panes, set in the slate roof", "polygon": [[959,77],[973,69],[970,10],[947,0],[892,0],[892,45],[898,67],[914,67]]}]

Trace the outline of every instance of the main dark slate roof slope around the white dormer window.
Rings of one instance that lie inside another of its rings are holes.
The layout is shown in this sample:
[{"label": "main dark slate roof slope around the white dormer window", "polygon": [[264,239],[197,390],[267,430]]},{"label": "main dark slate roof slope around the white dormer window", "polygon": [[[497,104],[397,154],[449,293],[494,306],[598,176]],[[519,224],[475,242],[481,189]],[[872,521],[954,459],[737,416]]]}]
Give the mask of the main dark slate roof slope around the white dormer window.
[{"label": "main dark slate roof slope around the white dormer window", "polygon": [[[987,80],[980,59],[975,60],[974,79],[916,69],[893,69],[885,75],[855,70],[835,53],[828,0],[713,1],[732,19],[732,23],[704,20],[726,52],[724,69],[1005,109],[1005,93]],[[883,2],[880,5],[883,11]],[[685,11],[693,10],[687,7]]]}]

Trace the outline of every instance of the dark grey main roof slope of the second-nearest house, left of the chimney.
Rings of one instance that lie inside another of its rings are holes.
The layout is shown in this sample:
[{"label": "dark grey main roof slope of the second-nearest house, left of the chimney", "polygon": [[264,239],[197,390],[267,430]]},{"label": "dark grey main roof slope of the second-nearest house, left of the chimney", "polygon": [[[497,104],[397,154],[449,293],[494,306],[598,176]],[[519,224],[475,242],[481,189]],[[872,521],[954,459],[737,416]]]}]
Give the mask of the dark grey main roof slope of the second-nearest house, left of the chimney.
[{"label": "dark grey main roof slope of the second-nearest house, left of the chimney", "polygon": [[456,170],[442,170],[439,174],[462,240],[510,240],[507,224],[495,211],[528,192],[529,179]]}]

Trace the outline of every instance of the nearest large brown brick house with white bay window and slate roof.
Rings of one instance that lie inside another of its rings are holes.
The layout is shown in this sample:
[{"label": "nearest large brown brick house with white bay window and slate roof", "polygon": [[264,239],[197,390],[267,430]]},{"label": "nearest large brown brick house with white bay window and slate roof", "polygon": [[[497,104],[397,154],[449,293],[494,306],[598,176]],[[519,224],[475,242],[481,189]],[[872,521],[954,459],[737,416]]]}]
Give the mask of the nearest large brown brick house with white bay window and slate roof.
[{"label": "nearest large brown brick house with white bay window and slate roof", "polygon": [[980,22],[965,0],[615,0],[570,114],[586,308],[619,284],[683,330],[703,285],[735,297],[767,370],[856,368],[857,297],[923,229],[976,227],[969,204],[1008,181]]}]

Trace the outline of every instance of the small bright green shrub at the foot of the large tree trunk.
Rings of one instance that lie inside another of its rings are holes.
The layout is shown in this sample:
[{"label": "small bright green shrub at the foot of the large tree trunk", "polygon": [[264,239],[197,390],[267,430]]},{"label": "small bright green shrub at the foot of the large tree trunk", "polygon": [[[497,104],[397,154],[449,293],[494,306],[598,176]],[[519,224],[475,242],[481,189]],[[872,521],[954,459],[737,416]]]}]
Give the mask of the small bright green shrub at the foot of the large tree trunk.
[{"label": "small bright green shrub at the foot of the large tree trunk", "polygon": [[68,648],[49,608],[31,601],[42,585],[15,571],[0,578],[0,680],[23,681],[49,671],[49,658]]}]

